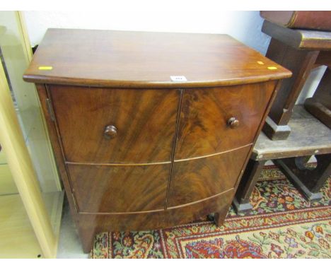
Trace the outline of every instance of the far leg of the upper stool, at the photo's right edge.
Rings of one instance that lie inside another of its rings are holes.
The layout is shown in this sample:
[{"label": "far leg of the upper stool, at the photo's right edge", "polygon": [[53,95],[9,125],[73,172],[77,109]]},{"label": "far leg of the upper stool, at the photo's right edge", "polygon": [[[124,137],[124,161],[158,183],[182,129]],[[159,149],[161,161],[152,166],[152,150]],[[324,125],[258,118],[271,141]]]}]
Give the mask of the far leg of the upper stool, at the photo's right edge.
[{"label": "far leg of the upper stool, at the photo's right edge", "polygon": [[331,129],[331,69],[325,74],[315,90],[313,98],[307,98],[305,108]]}]

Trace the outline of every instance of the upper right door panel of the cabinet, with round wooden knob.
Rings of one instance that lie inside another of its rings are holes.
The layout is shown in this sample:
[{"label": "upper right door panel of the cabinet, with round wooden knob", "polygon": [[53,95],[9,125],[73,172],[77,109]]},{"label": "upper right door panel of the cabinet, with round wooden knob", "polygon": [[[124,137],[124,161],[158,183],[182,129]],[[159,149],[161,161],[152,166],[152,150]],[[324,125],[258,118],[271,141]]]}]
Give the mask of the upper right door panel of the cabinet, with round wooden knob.
[{"label": "upper right door panel of the cabinet, with round wooden knob", "polygon": [[185,90],[175,160],[252,143],[273,90],[273,81]]}]

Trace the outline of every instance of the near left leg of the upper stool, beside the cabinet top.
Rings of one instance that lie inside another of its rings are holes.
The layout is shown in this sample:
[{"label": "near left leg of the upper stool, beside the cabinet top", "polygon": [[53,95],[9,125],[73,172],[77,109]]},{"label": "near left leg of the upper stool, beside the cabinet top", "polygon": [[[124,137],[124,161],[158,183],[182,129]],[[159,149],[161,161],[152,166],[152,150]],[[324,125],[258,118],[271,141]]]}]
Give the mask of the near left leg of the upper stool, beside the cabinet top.
[{"label": "near left leg of the upper stool, beside the cabinet top", "polygon": [[266,119],[263,131],[272,140],[284,140],[290,134],[288,126],[293,107],[306,79],[313,68],[318,51],[294,49],[272,38],[266,56],[292,71],[291,78],[281,81],[281,86]]}]

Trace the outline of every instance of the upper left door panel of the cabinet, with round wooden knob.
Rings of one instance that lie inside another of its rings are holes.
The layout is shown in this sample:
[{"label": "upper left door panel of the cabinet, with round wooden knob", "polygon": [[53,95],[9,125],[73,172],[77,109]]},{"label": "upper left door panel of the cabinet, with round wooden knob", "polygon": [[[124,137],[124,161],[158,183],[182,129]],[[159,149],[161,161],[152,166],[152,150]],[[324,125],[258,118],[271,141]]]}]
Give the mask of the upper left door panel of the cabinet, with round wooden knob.
[{"label": "upper left door panel of the cabinet, with round wooden knob", "polygon": [[67,161],[170,161],[178,90],[48,88]]}]

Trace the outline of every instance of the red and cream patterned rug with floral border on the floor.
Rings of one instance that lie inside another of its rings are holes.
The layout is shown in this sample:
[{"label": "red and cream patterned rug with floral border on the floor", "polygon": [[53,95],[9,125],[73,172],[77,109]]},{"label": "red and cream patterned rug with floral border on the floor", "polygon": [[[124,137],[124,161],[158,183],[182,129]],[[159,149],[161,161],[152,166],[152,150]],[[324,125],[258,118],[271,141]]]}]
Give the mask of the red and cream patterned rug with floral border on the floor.
[{"label": "red and cream patterned rug with floral border on the floor", "polygon": [[251,196],[253,210],[231,208],[221,227],[205,218],[163,230],[100,233],[91,258],[331,258],[331,177],[310,203],[274,166]]}]

